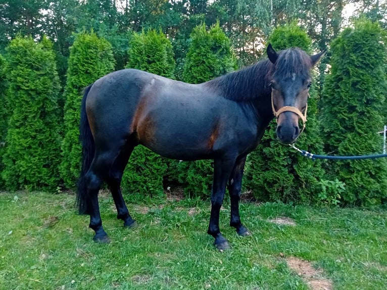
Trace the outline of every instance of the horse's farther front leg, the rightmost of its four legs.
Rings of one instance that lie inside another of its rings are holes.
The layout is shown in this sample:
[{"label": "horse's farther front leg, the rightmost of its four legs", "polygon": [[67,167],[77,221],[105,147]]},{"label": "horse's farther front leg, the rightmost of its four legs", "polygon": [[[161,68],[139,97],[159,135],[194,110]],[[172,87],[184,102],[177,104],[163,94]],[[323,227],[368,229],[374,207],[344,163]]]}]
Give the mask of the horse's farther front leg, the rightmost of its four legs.
[{"label": "horse's farther front leg, the rightmost of its four legs", "polygon": [[247,156],[239,157],[236,160],[228,180],[228,193],[231,201],[230,226],[233,226],[236,229],[236,232],[243,236],[250,235],[249,230],[240,222],[239,217],[240,191],[242,188],[242,178],[246,157]]}]

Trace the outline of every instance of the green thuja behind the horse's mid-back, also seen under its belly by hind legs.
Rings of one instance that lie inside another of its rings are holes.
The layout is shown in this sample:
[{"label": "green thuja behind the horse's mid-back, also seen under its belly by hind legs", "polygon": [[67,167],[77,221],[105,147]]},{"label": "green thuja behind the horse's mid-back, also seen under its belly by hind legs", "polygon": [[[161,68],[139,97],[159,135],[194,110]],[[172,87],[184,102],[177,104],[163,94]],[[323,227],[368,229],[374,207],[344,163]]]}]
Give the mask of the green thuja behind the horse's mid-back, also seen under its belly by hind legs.
[{"label": "green thuja behind the horse's mid-back, also seen under its belly by hind legs", "polygon": [[[173,78],[175,60],[172,44],[161,31],[149,29],[134,33],[129,41],[128,57],[126,68],[140,69]],[[171,164],[174,162],[160,157],[143,146],[137,146],[123,174],[122,189],[138,194],[163,194],[163,179]]]}]

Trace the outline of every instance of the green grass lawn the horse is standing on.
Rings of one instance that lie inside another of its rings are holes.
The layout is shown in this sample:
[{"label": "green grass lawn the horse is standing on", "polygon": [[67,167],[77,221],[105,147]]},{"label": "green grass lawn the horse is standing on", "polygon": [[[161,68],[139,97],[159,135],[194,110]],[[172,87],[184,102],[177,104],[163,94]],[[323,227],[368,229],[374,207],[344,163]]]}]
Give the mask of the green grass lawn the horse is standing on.
[{"label": "green grass lawn the horse is standing on", "polygon": [[[209,202],[128,200],[138,226],[125,229],[112,198],[100,197],[112,239],[100,245],[74,200],[44,192],[0,194],[0,289],[307,289],[286,257],[310,261],[334,289],[387,288],[382,209],[242,203],[252,236],[239,237],[228,226],[226,203],[220,225],[232,250],[222,253],[206,233]],[[278,216],[297,225],[268,221]]]}]

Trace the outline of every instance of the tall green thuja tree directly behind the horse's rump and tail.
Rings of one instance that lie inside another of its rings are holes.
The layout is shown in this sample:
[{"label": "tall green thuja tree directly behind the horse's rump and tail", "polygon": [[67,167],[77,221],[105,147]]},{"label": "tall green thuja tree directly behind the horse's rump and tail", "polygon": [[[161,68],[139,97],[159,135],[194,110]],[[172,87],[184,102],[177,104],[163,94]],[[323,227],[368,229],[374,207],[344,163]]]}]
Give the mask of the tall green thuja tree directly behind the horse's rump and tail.
[{"label": "tall green thuja tree directly behind the horse's rump and tail", "polygon": [[83,89],[114,70],[111,44],[95,33],[81,32],[70,47],[67,81],[64,91],[64,139],[61,176],[68,188],[75,187],[80,172],[80,105]]}]

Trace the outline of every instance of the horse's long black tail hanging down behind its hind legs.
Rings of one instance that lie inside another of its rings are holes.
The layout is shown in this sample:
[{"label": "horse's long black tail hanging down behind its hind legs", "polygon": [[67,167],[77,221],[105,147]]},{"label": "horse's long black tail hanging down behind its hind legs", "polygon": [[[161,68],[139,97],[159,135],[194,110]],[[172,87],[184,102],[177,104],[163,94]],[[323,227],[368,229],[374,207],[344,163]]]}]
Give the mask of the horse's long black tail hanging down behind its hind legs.
[{"label": "horse's long black tail hanging down behind its hind legs", "polygon": [[90,214],[87,202],[87,190],[85,175],[89,170],[91,162],[94,158],[94,138],[91,134],[89,121],[86,115],[86,98],[92,84],[85,88],[81,103],[81,118],[79,126],[79,140],[82,144],[82,167],[81,175],[77,184],[77,205],[79,214]]}]

